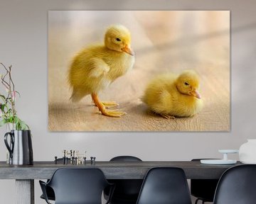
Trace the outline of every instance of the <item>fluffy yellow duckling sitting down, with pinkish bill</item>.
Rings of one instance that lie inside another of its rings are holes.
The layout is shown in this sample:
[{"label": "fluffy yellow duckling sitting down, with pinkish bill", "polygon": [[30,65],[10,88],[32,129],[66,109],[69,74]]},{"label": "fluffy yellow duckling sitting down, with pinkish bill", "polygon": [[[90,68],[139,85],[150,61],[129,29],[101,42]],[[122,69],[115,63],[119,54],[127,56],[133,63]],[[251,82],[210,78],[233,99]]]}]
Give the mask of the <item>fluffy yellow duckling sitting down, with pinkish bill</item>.
[{"label": "fluffy yellow duckling sitting down, with pinkish bill", "polygon": [[164,118],[190,117],[203,107],[198,86],[199,77],[193,70],[186,70],[179,76],[160,75],[149,83],[142,101]]}]

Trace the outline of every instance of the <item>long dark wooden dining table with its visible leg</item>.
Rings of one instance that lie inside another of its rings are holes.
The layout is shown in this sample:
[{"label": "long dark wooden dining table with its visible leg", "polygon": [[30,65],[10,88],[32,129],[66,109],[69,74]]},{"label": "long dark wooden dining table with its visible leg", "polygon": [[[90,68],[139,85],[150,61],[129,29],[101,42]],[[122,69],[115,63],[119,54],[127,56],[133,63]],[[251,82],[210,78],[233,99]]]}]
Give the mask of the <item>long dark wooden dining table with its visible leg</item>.
[{"label": "long dark wooden dining table with its visible leg", "polygon": [[201,164],[200,161],[149,161],[149,162],[91,162],[70,164],[70,162],[33,162],[33,165],[11,165],[0,162],[0,179],[16,180],[16,203],[34,204],[34,180],[50,179],[59,168],[98,168],[107,179],[144,179],[149,169],[159,166],[179,167],[187,179],[220,179],[231,165]]}]

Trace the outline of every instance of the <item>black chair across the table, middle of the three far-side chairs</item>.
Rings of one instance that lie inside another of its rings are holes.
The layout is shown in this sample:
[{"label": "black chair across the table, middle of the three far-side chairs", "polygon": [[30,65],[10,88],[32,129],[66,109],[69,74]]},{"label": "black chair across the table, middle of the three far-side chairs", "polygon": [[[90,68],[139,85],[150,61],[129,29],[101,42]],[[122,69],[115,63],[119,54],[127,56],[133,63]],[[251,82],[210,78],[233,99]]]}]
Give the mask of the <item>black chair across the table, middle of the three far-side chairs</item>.
[{"label": "black chair across the table, middle of the three far-side chairs", "polygon": [[[142,162],[142,159],[133,156],[118,156],[110,159],[110,162]],[[114,183],[114,193],[111,204],[135,204],[139,196],[140,188],[142,187],[142,179],[112,179],[108,180]],[[109,196],[109,189],[105,191],[105,198]]]}]

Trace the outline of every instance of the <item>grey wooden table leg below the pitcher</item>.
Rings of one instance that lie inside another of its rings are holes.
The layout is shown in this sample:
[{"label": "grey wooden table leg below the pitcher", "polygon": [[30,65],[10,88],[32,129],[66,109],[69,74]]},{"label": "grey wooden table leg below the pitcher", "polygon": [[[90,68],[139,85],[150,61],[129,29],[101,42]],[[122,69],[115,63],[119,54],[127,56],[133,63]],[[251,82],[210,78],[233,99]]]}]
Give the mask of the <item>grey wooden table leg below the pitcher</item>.
[{"label": "grey wooden table leg below the pitcher", "polygon": [[35,204],[34,180],[16,179],[16,204]]}]

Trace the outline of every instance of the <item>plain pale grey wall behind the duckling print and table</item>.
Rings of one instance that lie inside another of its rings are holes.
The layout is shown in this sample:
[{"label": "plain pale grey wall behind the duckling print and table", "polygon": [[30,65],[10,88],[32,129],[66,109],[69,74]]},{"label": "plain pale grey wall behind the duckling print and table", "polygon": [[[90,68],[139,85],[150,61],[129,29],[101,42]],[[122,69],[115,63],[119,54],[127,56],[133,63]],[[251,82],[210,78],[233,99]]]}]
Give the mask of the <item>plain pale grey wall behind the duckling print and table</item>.
[{"label": "plain pale grey wall behind the duckling print and table", "polygon": [[[133,154],[143,160],[221,157],[256,138],[256,1],[0,1],[0,62],[13,65],[18,114],[33,132],[34,160],[52,160],[62,149],[87,150],[109,160]],[[48,132],[48,10],[231,10],[230,132]],[[4,137],[5,128],[1,128]],[[0,160],[6,158],[4,138]],[[238,159],[238,156],[233,156]],[[36,186],[36,203],[40,189]],[[1,203],[15,203],[14,181],[0,181]]]}]

